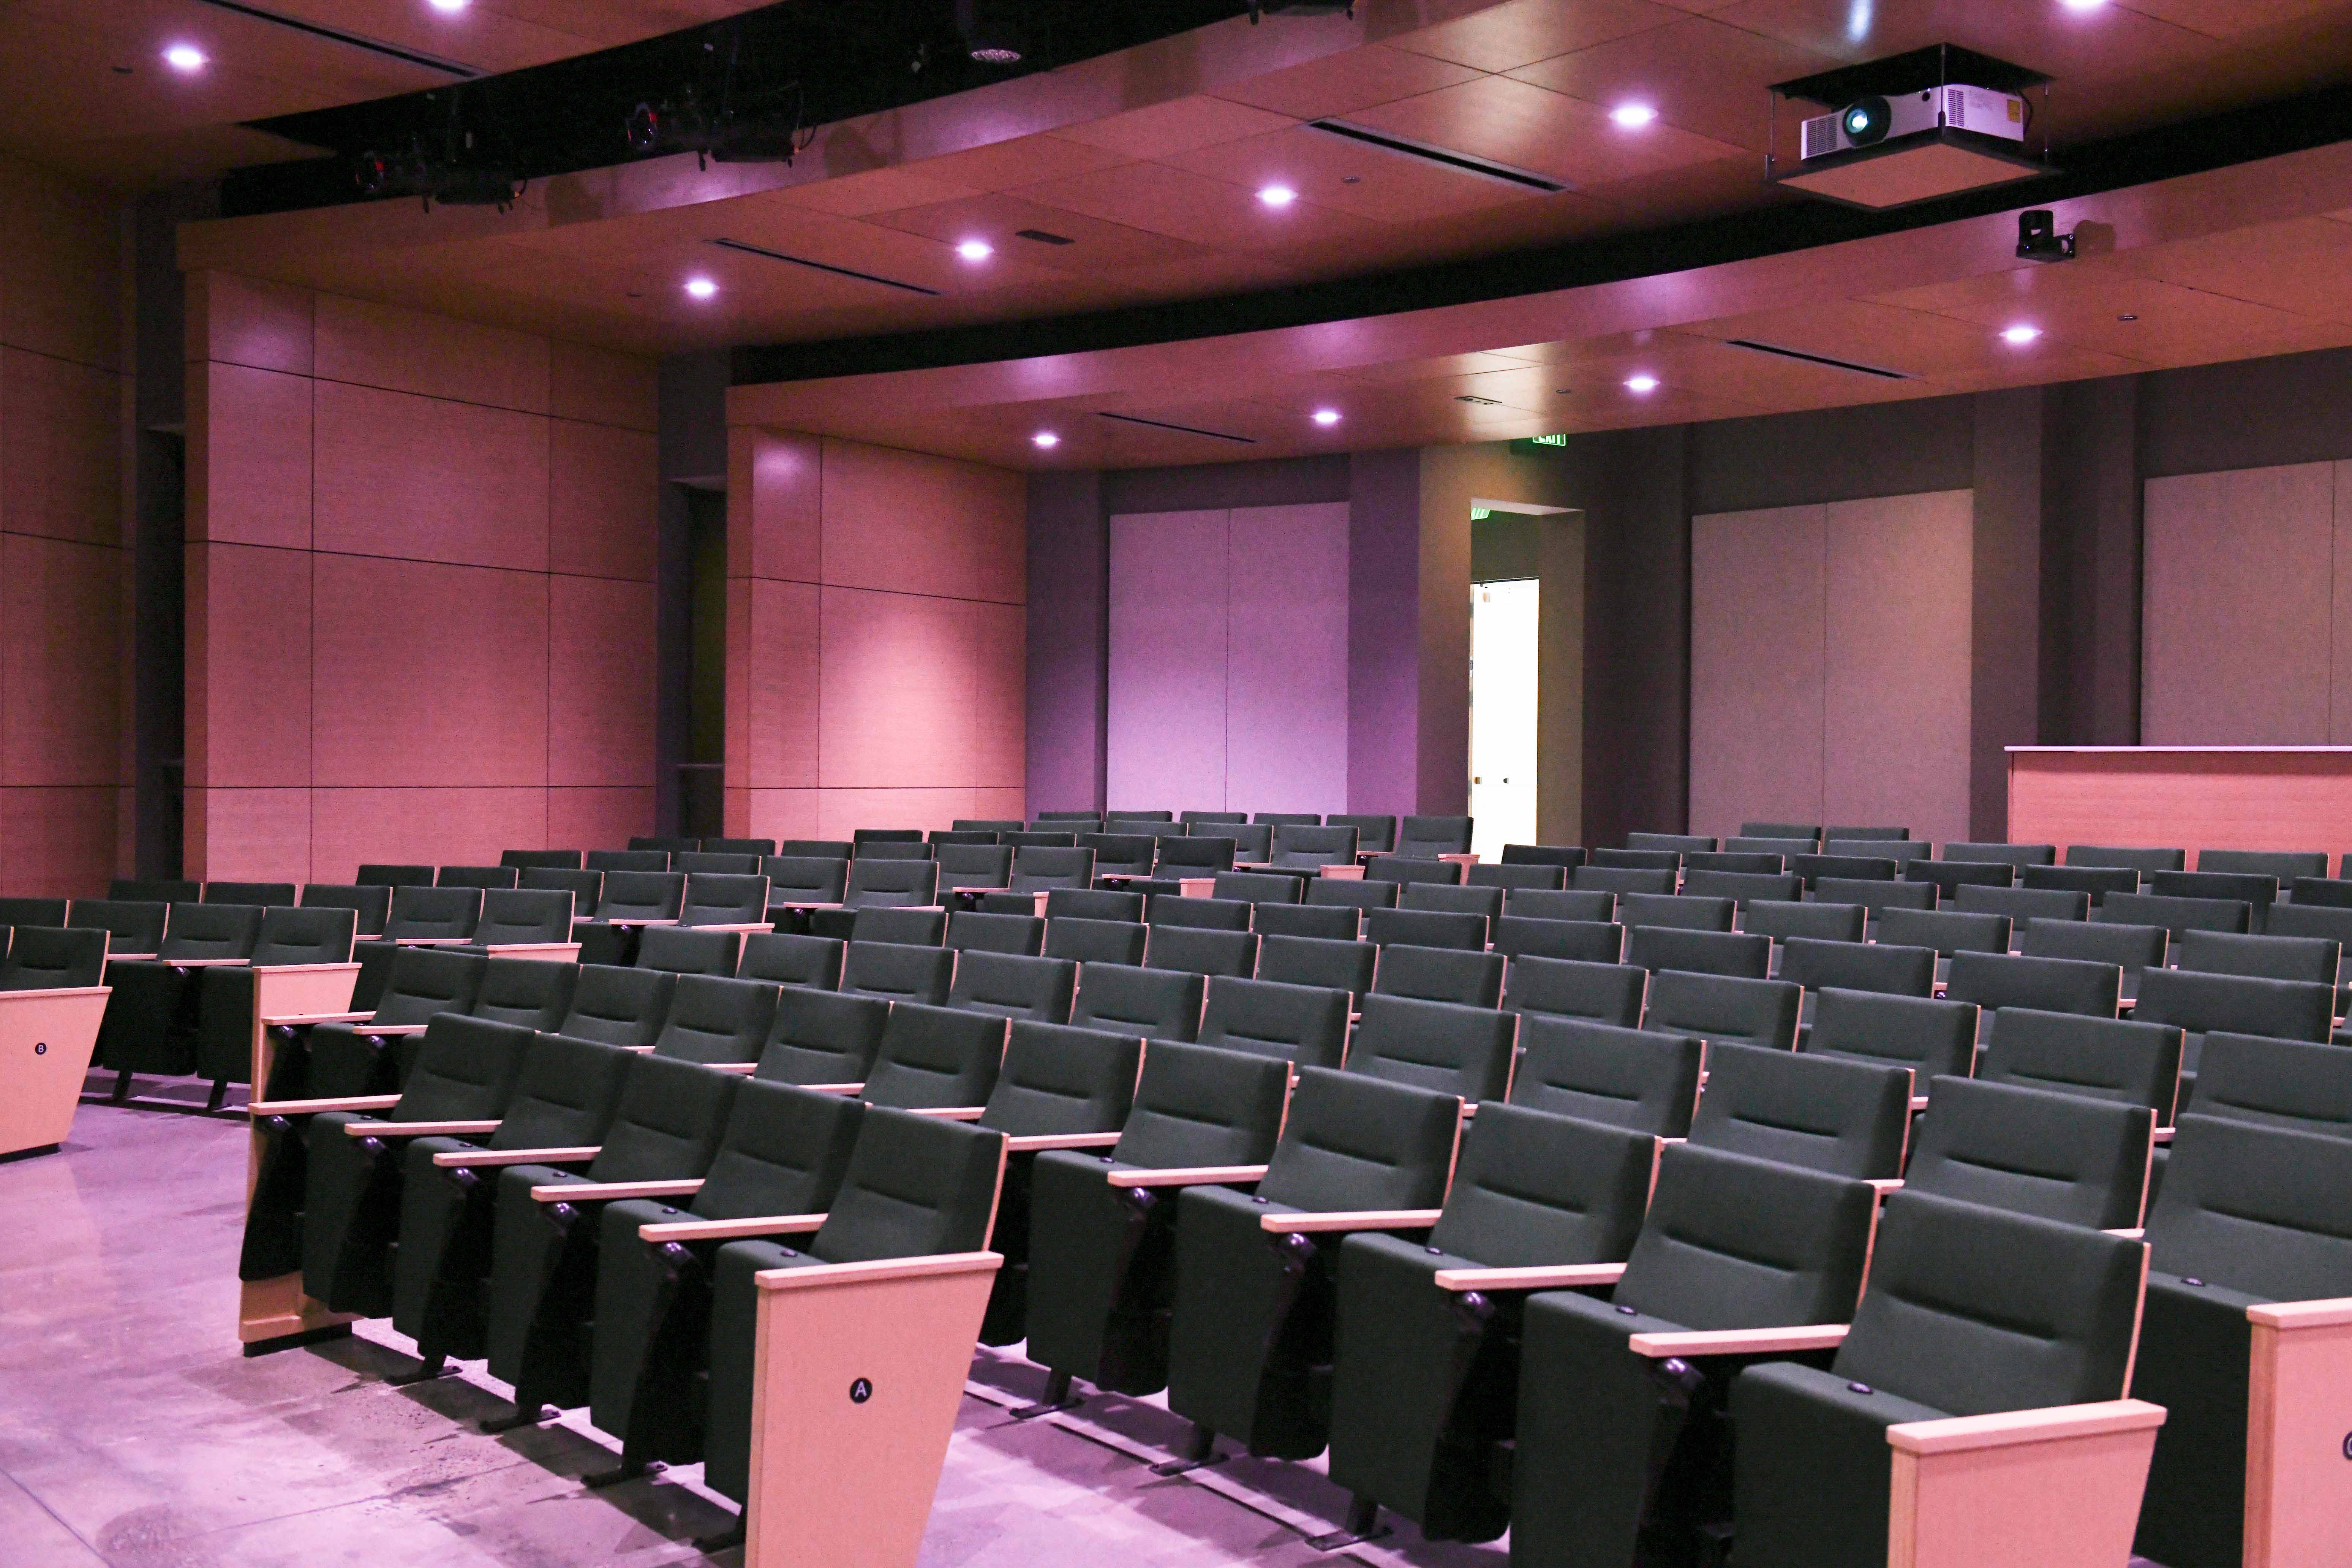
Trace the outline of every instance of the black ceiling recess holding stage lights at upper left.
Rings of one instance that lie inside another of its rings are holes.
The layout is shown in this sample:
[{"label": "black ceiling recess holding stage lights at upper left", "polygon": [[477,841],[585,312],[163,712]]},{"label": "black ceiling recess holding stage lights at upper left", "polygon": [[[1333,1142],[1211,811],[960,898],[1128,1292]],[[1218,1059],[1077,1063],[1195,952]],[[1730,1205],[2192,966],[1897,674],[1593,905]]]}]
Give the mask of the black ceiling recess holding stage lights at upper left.
[{"label": "black ceiling recess holding stage lights at upper left", "polygon": [[[1014,63],[971,59],[971,47],[957,31],[957,9],[955,0],[786,0],[729,21],[529,71],[256,120],[256,129],[327,148],[334,158],[238,169],[221,186],[221,214],[367,200],[355,179],[365,155],[402,158],[423,146],[437,158],[449,146],[452,122],[470,136],[473,158],[520,181],[675,153],[675,146],[630,146],[630,115],[640,103],[682,103],[689,96],[710,113],[724,103],[741,122],[776,127],[779,141],[788,146],[795,127],[809,132],[1054,71],[1244,16],[1249,5],[1023,0],[1021,59]],[[1265,26],[1308,28],[1317,21],[1270,16]]]}]

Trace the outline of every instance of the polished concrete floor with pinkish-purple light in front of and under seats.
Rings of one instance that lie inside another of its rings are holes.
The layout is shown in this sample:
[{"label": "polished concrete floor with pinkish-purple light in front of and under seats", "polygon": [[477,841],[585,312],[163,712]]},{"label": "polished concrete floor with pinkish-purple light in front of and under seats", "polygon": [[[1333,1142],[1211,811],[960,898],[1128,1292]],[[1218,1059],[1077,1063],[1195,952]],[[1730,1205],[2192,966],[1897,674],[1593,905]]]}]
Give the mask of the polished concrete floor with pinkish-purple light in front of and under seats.
[{"label": "polished concrete floor with pinkish-purple light in front of and under seats", "polygon": [[[101,1084],[92,1079],[92,1086]],[[155,1088],[141,1084],[141,1091]],[[176,1086],[174,1086],[176,1088]],[[176,1095],[174,1095],[176,1098]],[[407,1340],[247,1361],[238,1121],[85,1103],[64,1152],[0,1164],[0,1563],[12,1568],[734,1568],[696,1535],[731,1509],[677,1469],[604,1493],[614,1443],[574,1413],[482,1436],[508,1389],[480,1363],[409,1389]],[[1345,1495],[1303,1465],[1145,1467],[1164,1408],[1094,1399],[1014,1422],[1044,1373],[983,1352],[948,1450],[924,1568],[1503,1568],[1496,1547],[1404,1540],[1319,1554]]]}]

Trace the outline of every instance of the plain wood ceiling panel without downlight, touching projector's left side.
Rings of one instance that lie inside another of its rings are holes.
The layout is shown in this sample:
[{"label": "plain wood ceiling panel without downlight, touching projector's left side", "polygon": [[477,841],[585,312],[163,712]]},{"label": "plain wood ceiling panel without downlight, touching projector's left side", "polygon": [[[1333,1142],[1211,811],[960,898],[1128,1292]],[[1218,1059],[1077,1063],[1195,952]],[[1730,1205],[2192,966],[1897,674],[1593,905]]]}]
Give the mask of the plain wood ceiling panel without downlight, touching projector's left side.
[{"label": "plain wood ceiling panel without downlight, touching projector's left side", "polygon": [[[1649,103],[1665,125],[1762,153],[1771,141],[1771,92],[1835,61],[1799,45],[1689,16],[1555,54],[1510,75],[1588,103]],[[1783,108],[1780,139],[1797,146],[1799,110]]]}]

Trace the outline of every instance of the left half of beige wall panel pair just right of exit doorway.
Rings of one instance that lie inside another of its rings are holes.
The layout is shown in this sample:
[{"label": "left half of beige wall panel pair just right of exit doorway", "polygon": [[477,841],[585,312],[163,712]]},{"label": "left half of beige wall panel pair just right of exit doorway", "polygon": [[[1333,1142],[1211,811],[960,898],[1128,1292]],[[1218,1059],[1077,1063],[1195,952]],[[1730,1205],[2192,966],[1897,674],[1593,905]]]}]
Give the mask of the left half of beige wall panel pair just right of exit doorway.
[{"label": "left half of beige wall panel pair just right of exit doorway", "polygon": [[1825,529],[1818,505],[1691,520],[1691,832],[1820,818]]}]

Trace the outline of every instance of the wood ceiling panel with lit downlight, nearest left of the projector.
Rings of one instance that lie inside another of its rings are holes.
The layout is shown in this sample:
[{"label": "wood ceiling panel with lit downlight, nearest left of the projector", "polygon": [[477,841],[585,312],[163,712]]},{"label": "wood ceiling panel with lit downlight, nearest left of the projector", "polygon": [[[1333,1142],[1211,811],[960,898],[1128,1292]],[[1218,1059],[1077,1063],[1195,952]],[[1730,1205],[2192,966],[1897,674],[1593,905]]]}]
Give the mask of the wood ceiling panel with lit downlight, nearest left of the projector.
[{"label": "wood ceiling panel with lit downlight, nearest left of the projector", "polygon": [[1355,115],[1359,125],[1430,146],[1536,169],[1573,186],[1738,158],[1743,148],[1672,125],[1628,129],[1609,110],[1505,75]]}]

